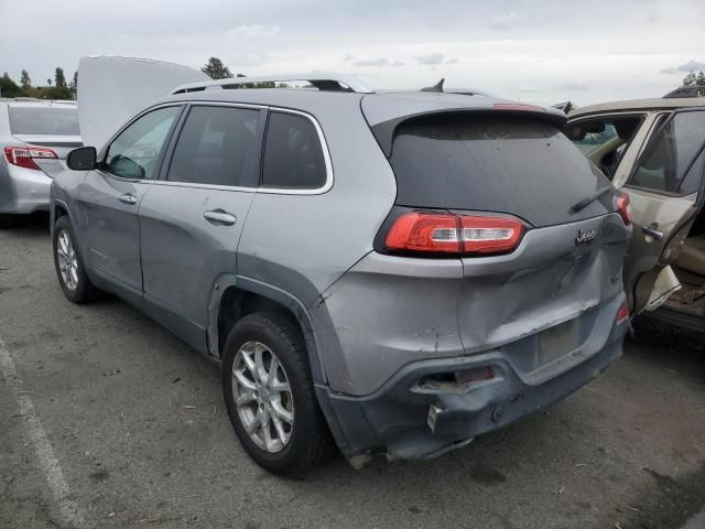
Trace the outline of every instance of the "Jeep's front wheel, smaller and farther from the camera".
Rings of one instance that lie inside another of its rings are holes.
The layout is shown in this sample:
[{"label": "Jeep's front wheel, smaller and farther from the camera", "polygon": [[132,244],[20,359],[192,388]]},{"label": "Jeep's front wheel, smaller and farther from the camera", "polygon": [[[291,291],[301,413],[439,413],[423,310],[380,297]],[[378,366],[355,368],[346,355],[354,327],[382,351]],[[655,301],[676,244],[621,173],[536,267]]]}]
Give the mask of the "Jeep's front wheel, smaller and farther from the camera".
[{"label": "Jeep's front wheel, smaller and farther from the camera", "polygon": [[74,229],[66,216],[58,217],[54,225],[53,249],[56,277],[66,299],[80,304],[98,298],[100,291],[86,274]]}]

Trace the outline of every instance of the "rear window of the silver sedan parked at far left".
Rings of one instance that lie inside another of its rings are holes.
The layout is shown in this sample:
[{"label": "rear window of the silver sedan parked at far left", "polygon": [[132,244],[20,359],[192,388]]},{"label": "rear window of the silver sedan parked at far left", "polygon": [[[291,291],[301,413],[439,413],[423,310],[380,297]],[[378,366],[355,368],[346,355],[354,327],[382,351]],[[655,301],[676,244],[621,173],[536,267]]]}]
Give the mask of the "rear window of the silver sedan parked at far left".
[{"label": "rear window of the silver sedan parked at far left", "polygon": [[13,134],[79,136],[75,108],[8,107]]}]

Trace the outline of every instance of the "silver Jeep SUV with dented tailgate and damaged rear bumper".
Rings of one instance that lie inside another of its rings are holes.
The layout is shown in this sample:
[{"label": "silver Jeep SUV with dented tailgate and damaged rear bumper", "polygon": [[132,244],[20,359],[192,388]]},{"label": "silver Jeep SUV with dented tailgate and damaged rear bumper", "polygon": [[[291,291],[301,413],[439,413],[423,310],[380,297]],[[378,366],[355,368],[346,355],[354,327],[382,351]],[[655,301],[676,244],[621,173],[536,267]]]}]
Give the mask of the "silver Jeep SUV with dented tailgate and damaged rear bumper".
[{"label": "silver Jeep SUV with dented tailgate and damaged rear bumper", "polygon": [[52,188],[65,295],[218,360],[257,463],[434,456],[620,356],[628,208],[563,115],[295,78],[176,88]]}]

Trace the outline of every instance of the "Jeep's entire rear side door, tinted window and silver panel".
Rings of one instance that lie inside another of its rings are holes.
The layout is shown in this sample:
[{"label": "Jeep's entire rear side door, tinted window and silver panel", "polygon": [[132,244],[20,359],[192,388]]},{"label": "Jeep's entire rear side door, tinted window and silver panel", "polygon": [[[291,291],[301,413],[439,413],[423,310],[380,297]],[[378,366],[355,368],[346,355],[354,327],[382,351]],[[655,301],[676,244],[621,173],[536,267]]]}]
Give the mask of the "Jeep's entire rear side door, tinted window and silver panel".
[{"label": "Jeep's entire rear side door, tinted window and silver panel", "polygon": [[248,106],[192,105],[160,181],[140,204],[148,311],[199,350],[214,288],[219,278],[235,276],[259,182],[265,114]]}]

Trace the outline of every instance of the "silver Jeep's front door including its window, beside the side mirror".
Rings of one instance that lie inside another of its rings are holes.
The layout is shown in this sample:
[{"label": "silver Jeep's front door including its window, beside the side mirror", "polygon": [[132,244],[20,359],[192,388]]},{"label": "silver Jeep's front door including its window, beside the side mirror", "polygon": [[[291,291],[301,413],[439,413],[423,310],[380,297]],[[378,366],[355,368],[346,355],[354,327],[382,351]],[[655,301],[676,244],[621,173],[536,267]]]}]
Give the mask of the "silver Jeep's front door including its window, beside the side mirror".
[{"label": "silver Jeep's front door including its window, beside the side mirror", "polygon": [[124,128],[78,194],[86,266],[130,301],[139,302],[142,291],[138,206],[158,175],[181,111],[182,106],[158,108]]}]

